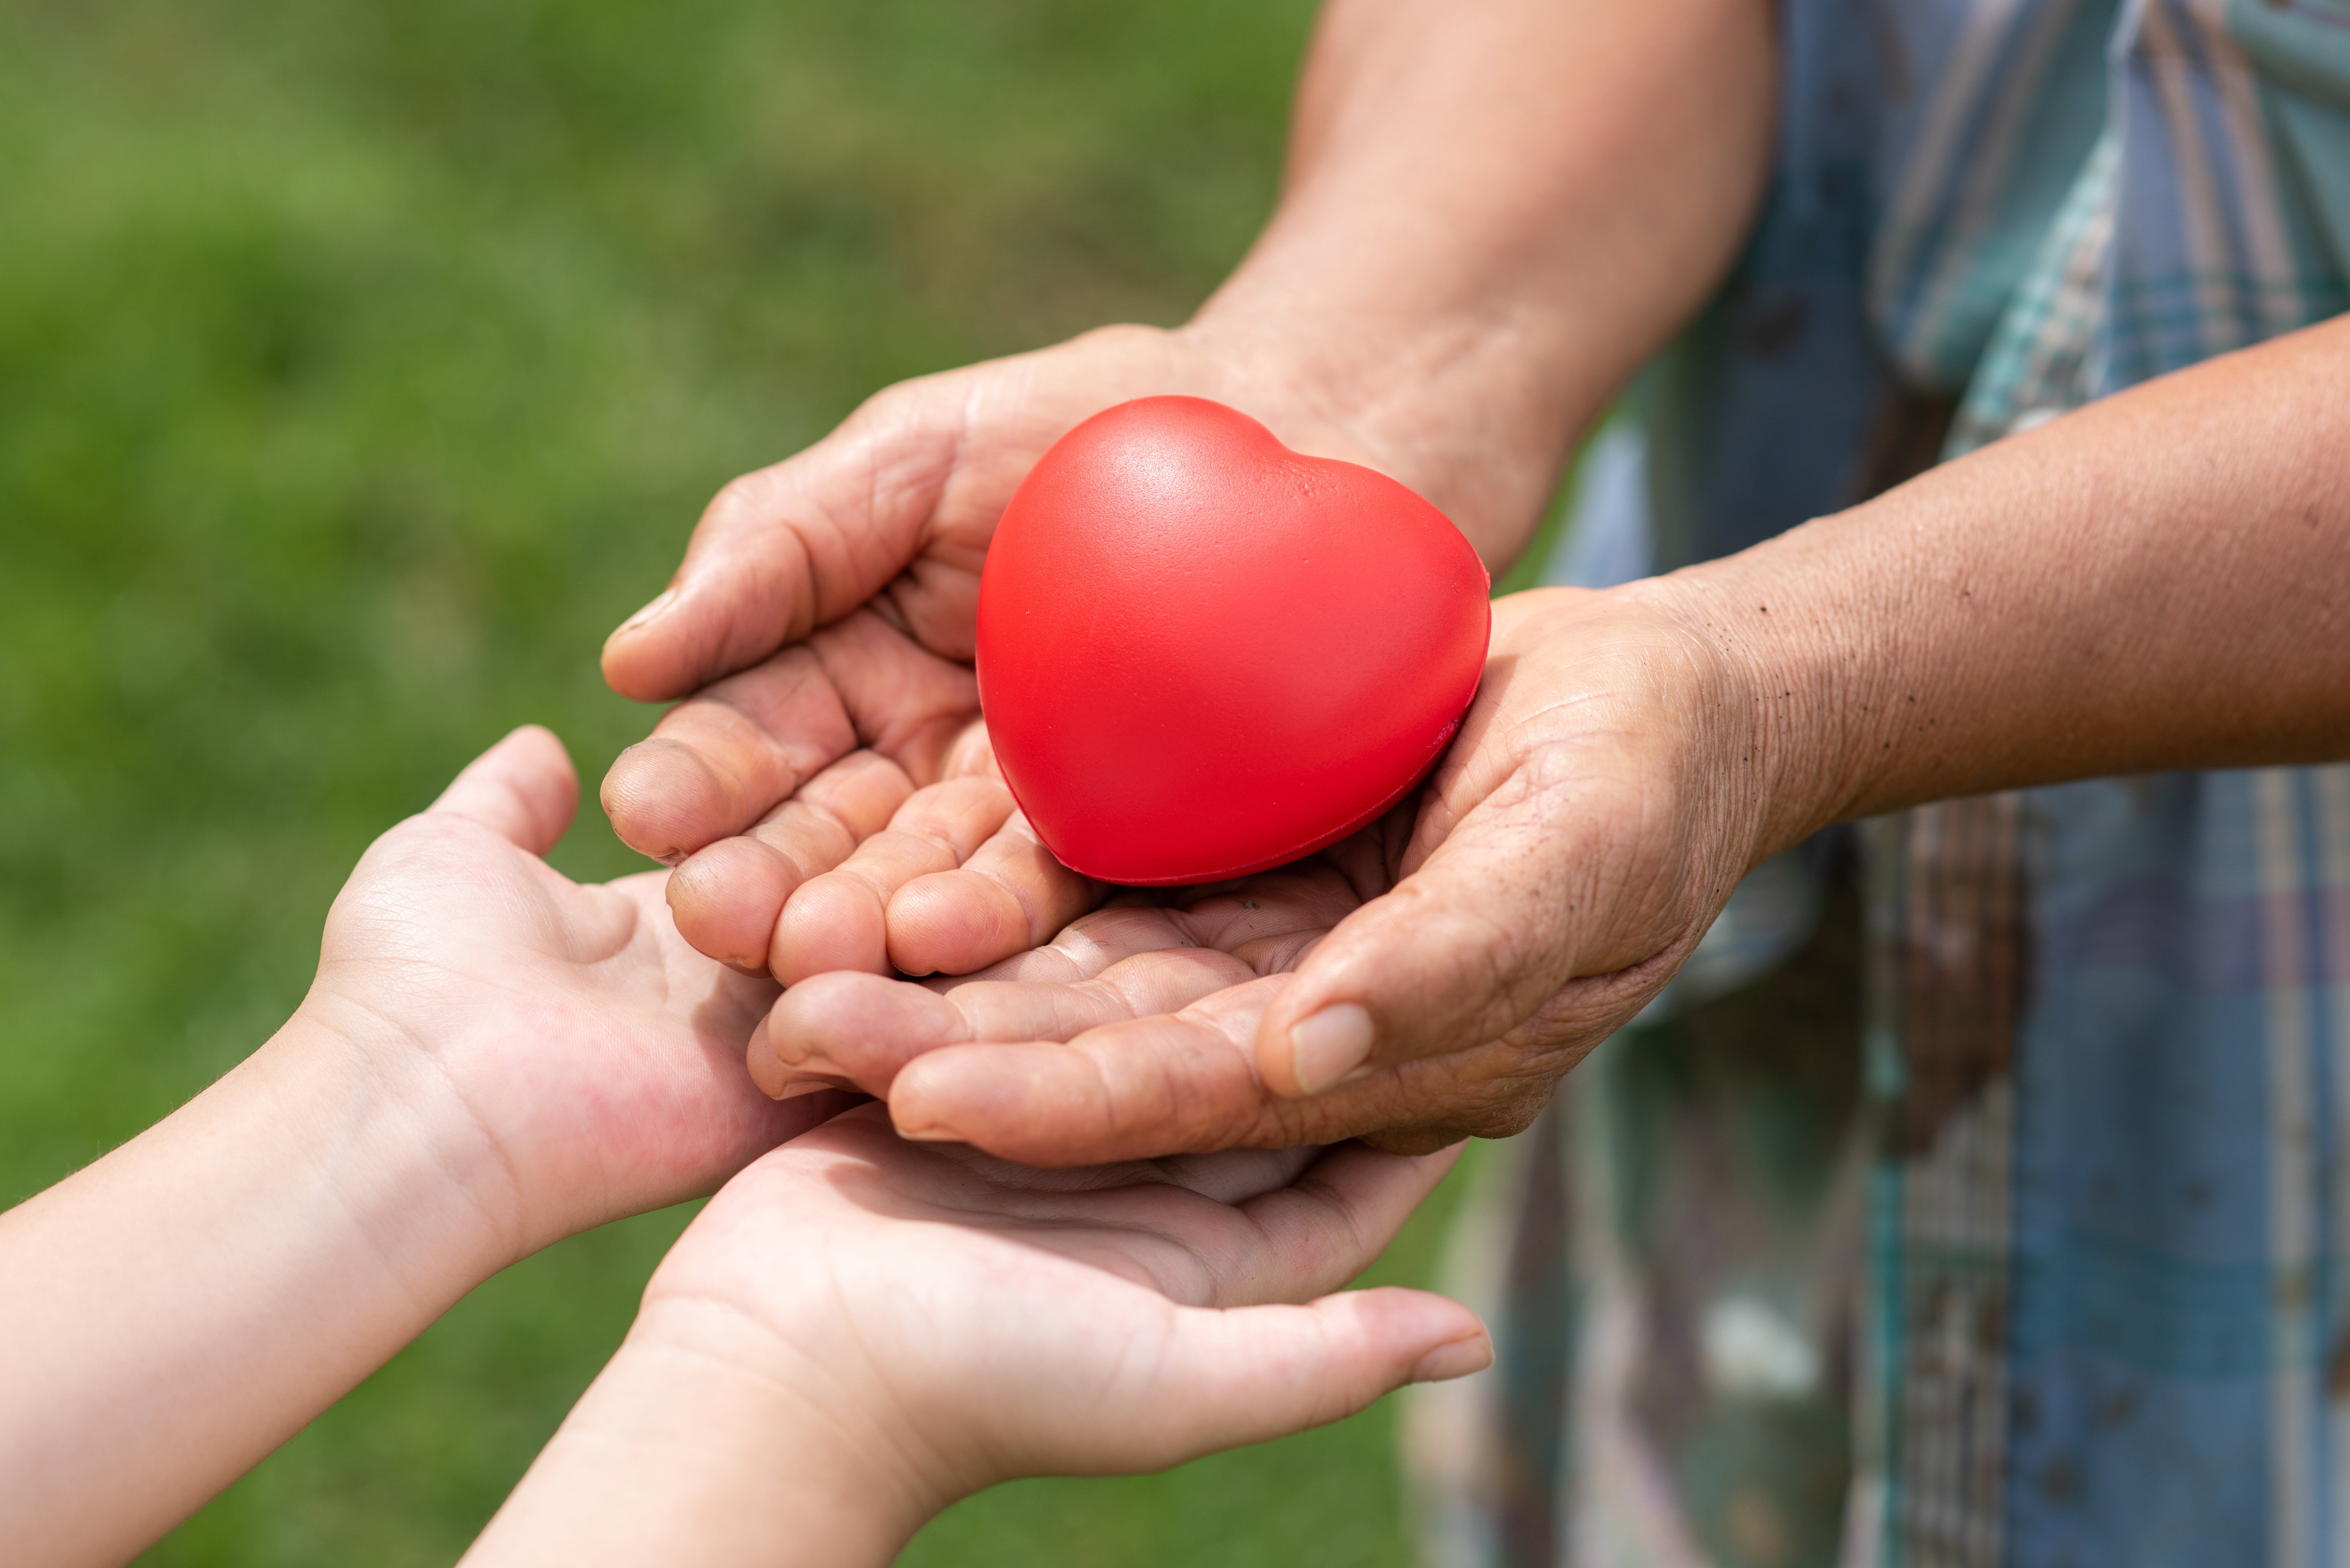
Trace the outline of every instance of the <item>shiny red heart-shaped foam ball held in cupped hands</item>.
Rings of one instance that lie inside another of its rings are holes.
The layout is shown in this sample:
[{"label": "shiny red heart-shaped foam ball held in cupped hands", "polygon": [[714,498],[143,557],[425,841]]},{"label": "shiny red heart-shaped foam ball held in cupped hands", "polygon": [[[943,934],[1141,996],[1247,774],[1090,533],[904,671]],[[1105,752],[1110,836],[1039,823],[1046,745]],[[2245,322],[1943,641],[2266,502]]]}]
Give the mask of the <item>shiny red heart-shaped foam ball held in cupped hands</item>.
[{"label": "shiny red heart-shaped foam ball held in cupped hands", "polygon": [[1095,414],[1013,494],[980,576],[980,705],[1060,860],[1215,882],[1419,783],[1485,670],[1485,567],[1384,475],[1203,397]]}]

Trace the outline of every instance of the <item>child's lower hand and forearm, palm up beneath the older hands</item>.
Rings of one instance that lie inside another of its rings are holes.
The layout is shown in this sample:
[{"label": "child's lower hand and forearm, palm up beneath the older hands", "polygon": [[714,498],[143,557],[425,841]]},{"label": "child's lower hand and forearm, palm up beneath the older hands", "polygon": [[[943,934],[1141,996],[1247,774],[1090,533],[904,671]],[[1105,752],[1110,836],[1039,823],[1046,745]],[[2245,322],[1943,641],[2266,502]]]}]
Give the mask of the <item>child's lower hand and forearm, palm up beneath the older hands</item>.
[{"label": "child's lower hand and forearm, palm up beneath the older hands", "polygon": [[879,1563],[996,1481],[1161,1469],[1471,1373],[1466,1307],[1323,1295],[1448,1166],[1041,1173],[853,1110],[712,1199],[468,1561]]}]

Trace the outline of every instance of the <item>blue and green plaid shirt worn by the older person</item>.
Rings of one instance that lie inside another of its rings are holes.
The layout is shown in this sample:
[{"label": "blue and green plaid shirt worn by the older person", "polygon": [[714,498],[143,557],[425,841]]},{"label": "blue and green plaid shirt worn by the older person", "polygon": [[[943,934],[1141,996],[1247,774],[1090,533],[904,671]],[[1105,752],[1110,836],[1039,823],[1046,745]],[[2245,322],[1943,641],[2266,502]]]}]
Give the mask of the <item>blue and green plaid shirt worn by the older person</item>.
[{"label": "blue and green plaid shirt worn by the older person", "polygon": [[[1553,581],[2350,306],[2350,0],[1781,24],[1765,214],[1586,458]],[[1833,846],[1762,867],[1485,1161],[1455,1274],[1502,1375],[1408,1427],[1429,1556],[2350,1561],[2350,769],[1948,802],[1859,851],[1864,959],[1819,931]],[[1842,1098],[1708,1046],[1800,1032],[1805,964],[1866,973],[1859,1048],[1821,1013]]]}]

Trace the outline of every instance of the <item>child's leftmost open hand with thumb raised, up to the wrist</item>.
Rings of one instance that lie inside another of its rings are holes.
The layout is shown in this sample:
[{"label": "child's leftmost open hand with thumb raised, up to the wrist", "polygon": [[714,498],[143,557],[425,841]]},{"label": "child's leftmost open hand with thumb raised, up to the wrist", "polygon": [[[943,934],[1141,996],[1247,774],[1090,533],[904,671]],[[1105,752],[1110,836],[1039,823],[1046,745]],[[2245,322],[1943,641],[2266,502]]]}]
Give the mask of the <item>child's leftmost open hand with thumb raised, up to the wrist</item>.
[{"label": "child's leftmost open hand with thumb raised, up to the wrist", "polygon": [[580,886],[562,743],[519,729],[385,832],[327,917],[296,1025],[414,1100],[510,1255],[714,1190],[825,1107],[776,1107],[740,1053],[776,987],[679,940],[660,872]]}]

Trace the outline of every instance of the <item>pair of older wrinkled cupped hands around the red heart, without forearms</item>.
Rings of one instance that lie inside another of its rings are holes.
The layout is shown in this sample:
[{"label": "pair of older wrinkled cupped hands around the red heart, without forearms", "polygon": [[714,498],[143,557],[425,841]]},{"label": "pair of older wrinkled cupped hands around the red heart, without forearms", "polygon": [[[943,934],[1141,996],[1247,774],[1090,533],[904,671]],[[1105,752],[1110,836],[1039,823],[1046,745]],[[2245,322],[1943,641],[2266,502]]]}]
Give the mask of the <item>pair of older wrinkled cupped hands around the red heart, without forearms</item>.
[{"label": "pair of older wrinkled cupped hands around the red heart, without forearms", "polygon": [[[909,1133],[1041,1164],[1426,1150],[1525,1126],[1694,947],[1758,853],[1760,719],[1753,675],[1668,595],[1497,604],[1436,773],[1307,865],[1137,896],[1036,842],[968,661],[987,538],[1053,440],[1196,393],[1412,477],[1264,364],[1121,327],[891,388],[731,484],[606,644],[630,696],[712,682],[623,752],[604,806],[677,867],[686,940],[790,987],[750,1046],[768,1091],[855,1084]],[[1372,1053],[1304,1081],[1290,1032],[1328,1004],[1363,1009]]]}]

